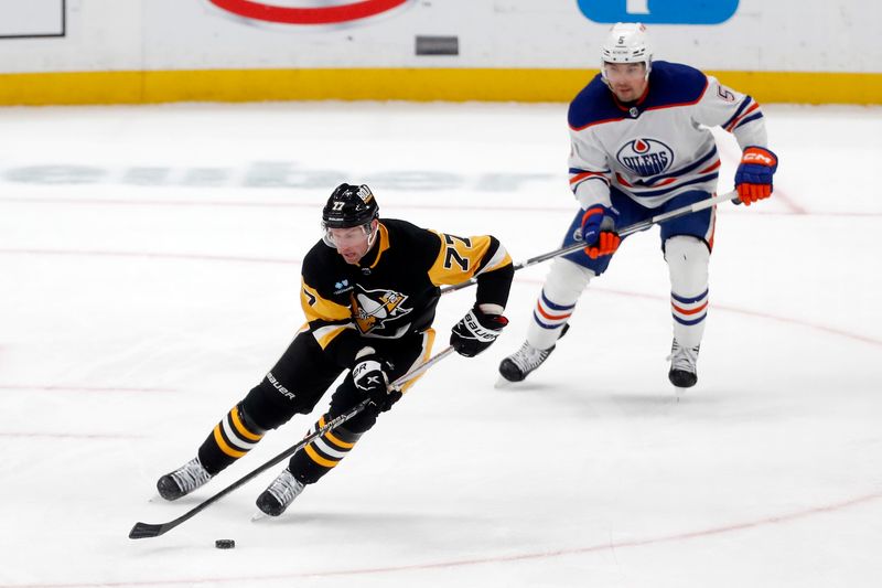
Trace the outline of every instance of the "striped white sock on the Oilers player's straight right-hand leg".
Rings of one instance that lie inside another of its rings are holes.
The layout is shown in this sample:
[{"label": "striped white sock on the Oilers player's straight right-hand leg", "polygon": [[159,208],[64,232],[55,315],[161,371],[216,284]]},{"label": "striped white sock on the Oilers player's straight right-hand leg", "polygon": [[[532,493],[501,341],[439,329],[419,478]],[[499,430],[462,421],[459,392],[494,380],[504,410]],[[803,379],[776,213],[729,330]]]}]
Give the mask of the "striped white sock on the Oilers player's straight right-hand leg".
[{"label": "striped white sock on the Oilers player's straight right-hand leg", "polygon": [[678,235],[665,242],[670,270],[670,311],[674,336],[685,348],[701,343],[708,314],[708,264],[710,252],[696,237]]}]

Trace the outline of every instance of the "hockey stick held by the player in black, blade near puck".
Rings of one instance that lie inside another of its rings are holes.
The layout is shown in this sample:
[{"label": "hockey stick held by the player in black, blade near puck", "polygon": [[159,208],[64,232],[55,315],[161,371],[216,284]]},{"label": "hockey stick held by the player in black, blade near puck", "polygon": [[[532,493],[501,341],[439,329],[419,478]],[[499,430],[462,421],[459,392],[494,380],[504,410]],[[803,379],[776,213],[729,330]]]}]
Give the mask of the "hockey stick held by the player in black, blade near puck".
[{"label": "hockey stick held by the player in black, blade near puck", "polygon": [[[410,372],[406,373],[405,375],[402,375],[401,377],[399,377],[398,379],[396,379],[395,382],[389,384],[388,391],[392,392],[392,391],[400,389],[401,386],[404,386],[405,384],[407,384],[411,379],[416,378],[417,376],[421,375],[429,367],[433,366],[434,364],[437,364],[438,362],[440,362],[441,360],[443,360],[444,357],[450,355],[452,352],[453,352],[453,348],[452,346],[447,348],[443,351],[440,351],[439,353],[437,353],[435,355],[433,355],[432,357],[430,357],[426,362],[421,363],[420,365],[418,365],[417,367],[415,367]],[[299,443],[297,443],[297,445],[294,445],[292,447],[289,447],[288,449],[286,449],[284,451],[282,451],[281,453],[279,453],[278,456],[272,458],[271,460],[267,461],[266,463],[263,463],[259,468],[255,469],[250,473],[244,475],[243,478],[239,478],[237,481],[233,482],[232,484],[226,487],[224,490],[222,490],[220,492],[218,492],[214,496],[212,496],[208,500],[197,504],[196,506],[194,506],[190,511],[185,512],[184,514],[182,514],[181,516],[179,516],[174,521],[169,521],[168,523],[161,523],[161,524],[135,523],[135,526],[131,527],[131,531],[129,532],[129,538],[130,539],[142,539],[142,538],[146,538],[146,537],[158,537],[158,536],[160,536],[160,535],[162,535],[164,533],[168,533],[169,531],[171,531],[172,528],[176,527],[181,523],[183,523],[185,521],[189,521],[190,518],[192,518],[193,516],[195,516],[200,512],[202,512],[205,509],[207,509],[209,505],[214,504],[215,502],[217,502],[222,498],[226,496],[227,494],[229,494],[230,492],[233,492],[234,490],[236,490],[240,485],[244,485],[245,483],[251,481],[257,475],[259,475],[259,474],[263,473],[265,471],[267,471],[268,469],[272,468],[273,466],[276,466],[277,463],[282,461],[284,458],[294,455],[299,449],[304,447],[306,443],[309,443],[310,441],[312,441],[316,437],[320,437],[320,436],[324,435],[325,432],[331,431],[331,430],[340,427],[341,425],[343,425],[344,423],[346,423],[351,418],[355,417],[356,415],[362,413],[362,410],[364,410],[367,407],[369,402],[370,402],[369,399],[363,400],[361,404],[356,405],[348,413],[344,413],[344,414],[340,415],[338,417],[331,419],[330,421],[327,421],[325,424],[324,427],[320,428],[315,432],[312,432],[312,434],[305,436],[303,439],[301,439],[301,441]]]}]

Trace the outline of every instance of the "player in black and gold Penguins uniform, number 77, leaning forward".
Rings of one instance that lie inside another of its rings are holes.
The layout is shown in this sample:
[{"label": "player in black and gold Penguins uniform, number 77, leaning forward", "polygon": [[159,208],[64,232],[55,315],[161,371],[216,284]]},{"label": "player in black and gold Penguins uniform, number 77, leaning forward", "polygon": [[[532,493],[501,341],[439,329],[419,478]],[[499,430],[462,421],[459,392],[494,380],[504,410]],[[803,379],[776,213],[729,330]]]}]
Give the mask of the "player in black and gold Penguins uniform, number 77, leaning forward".
[{"label": "player in black and gold Penguins uniform, number 77, leaning forward", "polygon": [[400,392],[387,393],[387,384],[428,359],[439,286],[477,279],[474,307],[450,335],[461,355],[477,355],[507,324],[503,311],[514,268],[495,237],[463,238],[380,220],[366,185],[337,186],[322,211],[322,240],[303,260],[300,298],[306,323],[260,384],[217,424],[197,456],[159,479],[162,498],[175,500],[205,484],[266,431],[312,411],[347,372],[312,430],[365,398],[370,398],[368,408],[294,453],[258,496],[263,513],[280,515],[401,397]]}]

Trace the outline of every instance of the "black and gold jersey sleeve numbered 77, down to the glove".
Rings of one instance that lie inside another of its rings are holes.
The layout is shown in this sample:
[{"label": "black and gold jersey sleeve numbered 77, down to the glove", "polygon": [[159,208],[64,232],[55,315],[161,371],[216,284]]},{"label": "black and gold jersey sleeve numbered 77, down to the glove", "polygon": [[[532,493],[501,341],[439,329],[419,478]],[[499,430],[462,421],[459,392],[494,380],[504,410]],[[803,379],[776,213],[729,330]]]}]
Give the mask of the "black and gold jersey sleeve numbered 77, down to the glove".
[{"label": "black and gold jersey sleeve numbered 77, down to the glove", "polygon": [[498,306],[502,311],[515,275],[512,256],[503,244],[492,235],[458,237],[432,233],[441,240],[441,248],[429,268],[431,282],[455,286],[476,278],[475,304]]}]

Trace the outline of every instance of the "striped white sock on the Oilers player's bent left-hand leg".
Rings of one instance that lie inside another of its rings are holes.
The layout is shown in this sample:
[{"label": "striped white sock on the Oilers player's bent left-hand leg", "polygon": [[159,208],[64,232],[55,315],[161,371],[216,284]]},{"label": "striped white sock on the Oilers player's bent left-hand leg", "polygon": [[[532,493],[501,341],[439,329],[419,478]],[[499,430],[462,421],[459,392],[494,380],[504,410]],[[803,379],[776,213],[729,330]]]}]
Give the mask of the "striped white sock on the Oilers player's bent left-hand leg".
[{"label": "striped white sock on the Oilers player's bent left-hand leg", "polygon": [[594,272],[561,257],[551,263],[551,269],[533,310],[527,328],[527,342],[536,349],[548,349],[560,336],[561,330],[576,309]]}]

